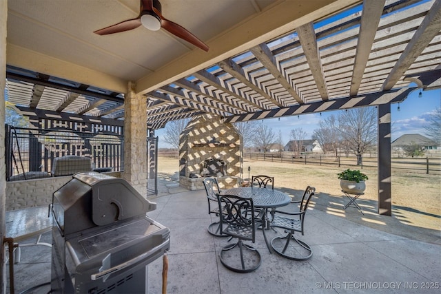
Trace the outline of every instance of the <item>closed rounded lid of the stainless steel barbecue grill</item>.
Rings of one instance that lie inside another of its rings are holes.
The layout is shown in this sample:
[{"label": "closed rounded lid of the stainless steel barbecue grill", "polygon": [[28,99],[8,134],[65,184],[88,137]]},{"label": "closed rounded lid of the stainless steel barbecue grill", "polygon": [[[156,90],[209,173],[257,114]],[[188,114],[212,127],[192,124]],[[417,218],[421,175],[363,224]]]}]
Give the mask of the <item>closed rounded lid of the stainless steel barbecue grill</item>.
[{"label": "closed rounded lid of the stainless steel barbecue grill", "polygon": [[105,226],[156,209],[129,182],[94,171],[79,173],[54,192],[55,220],[65,234]]}]

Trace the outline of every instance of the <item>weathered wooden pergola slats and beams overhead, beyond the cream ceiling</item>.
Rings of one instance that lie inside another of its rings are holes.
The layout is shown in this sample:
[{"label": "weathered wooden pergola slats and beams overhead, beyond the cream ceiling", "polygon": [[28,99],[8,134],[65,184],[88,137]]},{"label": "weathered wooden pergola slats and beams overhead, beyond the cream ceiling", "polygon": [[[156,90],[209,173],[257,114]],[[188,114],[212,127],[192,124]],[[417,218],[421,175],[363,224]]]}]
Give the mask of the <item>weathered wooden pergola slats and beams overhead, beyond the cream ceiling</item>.
[{"label": "weathered wooden pergola slats and beams overhead, beyond the cream ceiling", "polygon": [[[236,123],[398,103],[409,85],[439,87],[418,77],[440,73],[440,2],[365,0],[345,17],[300,25],[145,94],[148,124],[200,113]],[[123,119],[123,93],[33,74],[8,67],[11,103]]]}]

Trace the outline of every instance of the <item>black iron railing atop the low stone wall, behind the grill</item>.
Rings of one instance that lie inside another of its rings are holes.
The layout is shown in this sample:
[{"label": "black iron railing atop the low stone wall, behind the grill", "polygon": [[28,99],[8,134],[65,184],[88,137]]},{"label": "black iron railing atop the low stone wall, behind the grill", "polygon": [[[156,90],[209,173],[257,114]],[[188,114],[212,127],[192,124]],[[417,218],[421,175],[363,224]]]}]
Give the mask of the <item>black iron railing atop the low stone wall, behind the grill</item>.
[{"label": "black iron railing atop the low stone wall, behind the grill", "polygon": [[90,158],[96,171],[121,171],[123,143],[124,137],[118,134],[6,125],[6,180],[54,176],[54,159],[63,156]]}]

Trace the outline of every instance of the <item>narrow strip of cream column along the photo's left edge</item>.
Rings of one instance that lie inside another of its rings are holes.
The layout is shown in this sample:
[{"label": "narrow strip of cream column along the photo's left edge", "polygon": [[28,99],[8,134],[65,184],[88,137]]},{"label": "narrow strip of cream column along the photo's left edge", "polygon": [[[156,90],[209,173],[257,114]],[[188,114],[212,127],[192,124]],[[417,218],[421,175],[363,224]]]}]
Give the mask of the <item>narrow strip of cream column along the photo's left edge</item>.
[{"label": "narrow strip of cream column along the photo's left edge", "polygon": [[[5,165],[5,87],[6,87],[6,20],[8,19],[8,1],[0,0],[0,239],[5,236],[5,203],[6,203],[6,165]],[[5,250],[0,251],[0,293],[4,293]]]}]

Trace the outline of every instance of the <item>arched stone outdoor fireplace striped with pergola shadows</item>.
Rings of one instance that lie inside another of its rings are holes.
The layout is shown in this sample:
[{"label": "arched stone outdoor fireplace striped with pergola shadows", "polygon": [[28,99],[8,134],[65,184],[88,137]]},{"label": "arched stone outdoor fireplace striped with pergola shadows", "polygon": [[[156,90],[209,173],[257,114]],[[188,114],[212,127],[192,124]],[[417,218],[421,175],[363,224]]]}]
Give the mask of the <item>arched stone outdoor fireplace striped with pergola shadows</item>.
[{"label": "arched stone outdoor fireplace striped with pergola shadows", "polygon": [[204,189],[205,177],[216,177],[221,189],[235,187],[243,170],[240,135],[219,116],[196,116],[180,136],[179,163],[179,183],[189,190]]}]

